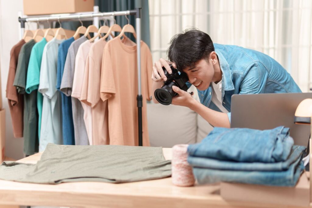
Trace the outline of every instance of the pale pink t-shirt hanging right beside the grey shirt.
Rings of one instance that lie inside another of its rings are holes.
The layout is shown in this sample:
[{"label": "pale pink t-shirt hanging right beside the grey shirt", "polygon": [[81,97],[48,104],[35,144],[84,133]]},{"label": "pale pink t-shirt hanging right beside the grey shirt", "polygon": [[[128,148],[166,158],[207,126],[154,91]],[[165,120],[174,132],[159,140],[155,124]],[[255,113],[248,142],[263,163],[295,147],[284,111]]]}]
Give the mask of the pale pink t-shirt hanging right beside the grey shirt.
[{"label": "pale pink t-shirt hanging right beside the grey shirt", "polygon": [[[75,72],[74,72],[74,80],[73,87],[71,92],[71,97],[78,98],[80,100],[83,77],[85,72],[85,61],[89,54],[90,47],[93,43],[89,40],[83,42],[77,51],[76,59],[75,59]],[[92,112],[91,107],[83,102],[81,102],[82,108],[84,110],[83,119],[85,121],[85,128],[87,130],[89,144],[92,145]]]}]

